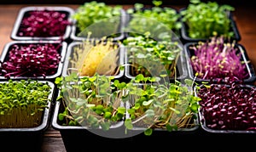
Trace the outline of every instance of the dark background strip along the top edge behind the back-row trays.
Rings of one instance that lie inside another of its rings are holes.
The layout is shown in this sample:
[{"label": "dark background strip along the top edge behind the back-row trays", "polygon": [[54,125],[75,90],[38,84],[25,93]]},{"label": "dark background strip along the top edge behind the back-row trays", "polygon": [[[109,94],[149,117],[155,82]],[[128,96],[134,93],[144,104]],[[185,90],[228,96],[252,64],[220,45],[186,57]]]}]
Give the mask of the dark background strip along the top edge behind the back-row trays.
[{"label": "dark background strip along the top edge behind the back-row trays", "polygon": [[[152,4],[151,0],[96,0],[107,4]],[[232,6],[253,6],[253,0],[212,0],[219,4],[230,4]],[[90,2],[90,0],[0,0],[0,4],[84,4]],[[163,5],[187,5],[189,0],[162,0]],[[207,2],[207,0],[201,0],[201,2]]]}]

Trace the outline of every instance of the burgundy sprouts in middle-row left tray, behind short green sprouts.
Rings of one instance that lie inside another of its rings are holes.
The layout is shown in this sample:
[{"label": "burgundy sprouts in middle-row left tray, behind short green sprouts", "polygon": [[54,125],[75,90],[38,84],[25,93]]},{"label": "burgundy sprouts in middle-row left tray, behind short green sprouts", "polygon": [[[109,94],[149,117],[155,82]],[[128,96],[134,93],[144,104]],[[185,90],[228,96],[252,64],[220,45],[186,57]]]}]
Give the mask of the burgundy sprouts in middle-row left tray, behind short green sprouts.
[{"label": "burgundy sprouts in middle-row left tray, behind short green sprouts", "polygon": [[61,44],[52,43],[12,45],[0,66],[0,74],[5,77],[54,75],[61,60],[60,47]]}]

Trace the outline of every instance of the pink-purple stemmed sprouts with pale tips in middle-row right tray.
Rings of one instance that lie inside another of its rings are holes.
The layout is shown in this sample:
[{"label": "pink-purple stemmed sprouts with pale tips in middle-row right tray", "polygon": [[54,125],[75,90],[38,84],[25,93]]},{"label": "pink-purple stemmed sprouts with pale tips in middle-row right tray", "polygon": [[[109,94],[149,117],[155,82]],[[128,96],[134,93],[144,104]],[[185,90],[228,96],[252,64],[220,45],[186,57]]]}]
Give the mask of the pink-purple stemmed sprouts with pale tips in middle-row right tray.
[{"label": "pink-purple stemmed sprouts with pale tips in middle-row right tray", "polygon": [[224,42],[224,37],[212,37],[209,42],[198,42],[190,46],[190,64],[198,78],[224,79],[236,76],[244,80],[248,76],[245,62],[242,61],[241,51],[236,43]]}]

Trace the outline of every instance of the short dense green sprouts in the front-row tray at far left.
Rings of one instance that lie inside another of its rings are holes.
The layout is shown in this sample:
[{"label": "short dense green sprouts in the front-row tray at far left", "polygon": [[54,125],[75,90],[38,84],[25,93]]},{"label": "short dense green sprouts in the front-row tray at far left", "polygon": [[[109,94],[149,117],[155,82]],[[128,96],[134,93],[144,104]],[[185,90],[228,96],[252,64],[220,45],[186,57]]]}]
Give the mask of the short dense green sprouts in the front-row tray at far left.
[{"label": "short dense green sprouts in the front-row tray at far left", "polygon": [[0,127],[38,127],[50,90],[48,82],[31,79],[0,83]]}]

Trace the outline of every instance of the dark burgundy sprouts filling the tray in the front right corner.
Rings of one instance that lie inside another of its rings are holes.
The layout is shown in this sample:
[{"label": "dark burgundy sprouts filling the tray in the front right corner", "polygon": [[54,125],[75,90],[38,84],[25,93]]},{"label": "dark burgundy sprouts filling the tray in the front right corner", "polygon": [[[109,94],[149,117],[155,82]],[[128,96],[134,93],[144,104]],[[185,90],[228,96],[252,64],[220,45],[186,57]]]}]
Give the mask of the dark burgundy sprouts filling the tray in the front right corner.
[{"label": "dark burgundy sprouts filling the tray in the front right corner", "polygon": [[255,130],[256,88],[230,82],[201,86],[201,113],[207,127],[215,130]]}]

